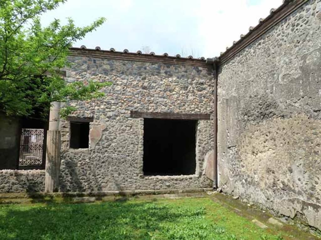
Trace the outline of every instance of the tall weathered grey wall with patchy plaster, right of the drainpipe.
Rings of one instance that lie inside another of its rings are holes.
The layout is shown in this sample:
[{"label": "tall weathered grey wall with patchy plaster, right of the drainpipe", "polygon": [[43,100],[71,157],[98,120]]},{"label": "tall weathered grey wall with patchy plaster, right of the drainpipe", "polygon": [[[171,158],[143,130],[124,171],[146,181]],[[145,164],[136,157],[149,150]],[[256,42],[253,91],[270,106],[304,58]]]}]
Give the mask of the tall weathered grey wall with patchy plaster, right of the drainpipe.
[{"label": "tall weathered grey wall with patchy plaster, right of the drainpipe", "polygon": [[219,186],[321,229],[321,2],[219,70]]}]

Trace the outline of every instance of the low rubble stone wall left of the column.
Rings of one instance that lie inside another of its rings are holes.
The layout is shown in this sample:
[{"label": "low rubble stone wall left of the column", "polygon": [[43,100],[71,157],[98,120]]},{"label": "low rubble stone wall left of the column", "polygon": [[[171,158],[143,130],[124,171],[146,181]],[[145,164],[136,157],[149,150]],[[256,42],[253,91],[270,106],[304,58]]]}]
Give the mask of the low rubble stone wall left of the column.
[{"label": "low rubble stone wall left of the column", "polygon": [[45,191],[45,170],[0,170],[0,193]]}]

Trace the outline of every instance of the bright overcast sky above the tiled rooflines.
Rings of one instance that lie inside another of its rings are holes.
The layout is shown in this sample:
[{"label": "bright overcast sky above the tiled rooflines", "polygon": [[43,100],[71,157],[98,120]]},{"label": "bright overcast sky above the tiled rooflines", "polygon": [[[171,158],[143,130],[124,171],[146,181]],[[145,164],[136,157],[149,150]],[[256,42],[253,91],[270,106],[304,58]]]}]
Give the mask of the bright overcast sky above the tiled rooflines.
[{"label": "bright overcast sky above the tiled rooflines", "polygon": [[74,44],[130,52],[149,46],[156,54],[193,53],[215,57],[256,26],[282,0],[69,0],[47,12],[42,22],[74,19],[85,26],[107,19],[97,31]]}]

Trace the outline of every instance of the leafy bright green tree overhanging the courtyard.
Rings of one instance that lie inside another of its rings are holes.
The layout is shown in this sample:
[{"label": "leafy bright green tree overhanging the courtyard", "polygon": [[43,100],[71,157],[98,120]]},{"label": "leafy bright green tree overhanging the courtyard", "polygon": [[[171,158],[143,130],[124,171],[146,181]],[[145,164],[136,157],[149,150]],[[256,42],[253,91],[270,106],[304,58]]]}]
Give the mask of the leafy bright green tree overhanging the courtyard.
[{"label": "leafy bright green tree overhanging the courtyard", "polygon": [[[86,27],[76,27],[72,19],[61,25],[55,19],[47,27],[41,14],[65,0],[0,0],[0,111],[6,115],[46,116],[50,102],[90,100],[110,83],[88,81],[66,84],[61,68],[69,66],[72,43],[105,22],[104,18]],[[67,104],[68,105],[68,104]],[[72,107],[65,107],[66,116]]]}]

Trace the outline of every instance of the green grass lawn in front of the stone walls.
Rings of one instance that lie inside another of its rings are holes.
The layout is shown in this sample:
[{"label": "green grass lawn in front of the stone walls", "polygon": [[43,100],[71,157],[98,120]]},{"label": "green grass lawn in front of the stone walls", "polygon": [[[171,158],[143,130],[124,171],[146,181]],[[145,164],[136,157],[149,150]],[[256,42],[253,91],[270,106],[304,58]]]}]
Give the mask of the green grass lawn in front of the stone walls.
[{"label": "green grass lawn in front of the stone walls", "polygon": [[0,205],[0,239],[277,240],[209,198]]}]

